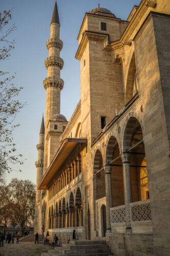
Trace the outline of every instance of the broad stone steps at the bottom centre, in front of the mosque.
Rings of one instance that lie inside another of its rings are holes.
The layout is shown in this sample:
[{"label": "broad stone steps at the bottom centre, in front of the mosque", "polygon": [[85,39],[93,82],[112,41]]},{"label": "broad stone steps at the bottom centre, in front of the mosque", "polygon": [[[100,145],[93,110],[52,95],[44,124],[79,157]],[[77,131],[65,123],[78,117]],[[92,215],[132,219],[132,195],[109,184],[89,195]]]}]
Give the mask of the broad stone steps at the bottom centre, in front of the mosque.
[{"label": "broad stone steps at the bottom centre, in front of the mosque", "polygon": [[41,256],[111,256],[111,250],[106,241],[70,241],[69,244],[55,247],[55,250],[48,250],[41,253]]}]

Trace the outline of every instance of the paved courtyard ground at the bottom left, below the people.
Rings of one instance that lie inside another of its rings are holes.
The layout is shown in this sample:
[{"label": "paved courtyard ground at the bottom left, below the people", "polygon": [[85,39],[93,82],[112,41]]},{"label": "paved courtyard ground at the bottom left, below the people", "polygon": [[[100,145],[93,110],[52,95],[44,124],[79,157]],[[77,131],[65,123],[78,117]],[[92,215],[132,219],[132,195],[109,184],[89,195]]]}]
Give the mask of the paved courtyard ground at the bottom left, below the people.
[{"label": "paved courtyard ground at the bottom left, below the people", "polygon": [[5,244],[5,246],[0,247],[1,256],[41,256],[42,252],[47,252],[48,250],[53,250],[54,248],[44,244],[34,244],[34,242],[20,242],[19,244]]}]

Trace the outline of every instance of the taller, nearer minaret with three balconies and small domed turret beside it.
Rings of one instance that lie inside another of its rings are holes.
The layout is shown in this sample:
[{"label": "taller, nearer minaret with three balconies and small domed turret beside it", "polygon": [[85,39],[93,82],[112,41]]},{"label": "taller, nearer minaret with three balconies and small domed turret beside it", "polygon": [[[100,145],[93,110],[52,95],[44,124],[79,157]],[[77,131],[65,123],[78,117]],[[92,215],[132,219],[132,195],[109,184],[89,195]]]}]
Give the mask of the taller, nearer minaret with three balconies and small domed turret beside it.
[{"label": "taller, nearer minaret with three balconies and small domed turret beside it", "polygon": [[45,59],[47,78],[43,82],[46,90],[44,172],[59,148],[59,136],[67,124],[66,118],[60,114],[60,92],[64,86],[64,81],[60,78],[60,71],[64,61],[60,58],[63,42],[60,40],[57,1],[51,21],[51,36],[46,42],[46,47],[49,51],[49,57]]}]

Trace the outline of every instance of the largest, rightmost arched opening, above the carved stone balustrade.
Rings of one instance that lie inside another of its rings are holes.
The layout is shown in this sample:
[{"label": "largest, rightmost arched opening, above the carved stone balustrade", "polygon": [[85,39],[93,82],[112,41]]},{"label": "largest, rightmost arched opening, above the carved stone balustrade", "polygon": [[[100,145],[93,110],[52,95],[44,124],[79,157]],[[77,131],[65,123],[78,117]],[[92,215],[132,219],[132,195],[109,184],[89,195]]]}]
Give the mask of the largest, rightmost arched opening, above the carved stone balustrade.
[{"label": "largest, rightmost arched opening, above the carved stone balustrade", "polygon": [[141,125],[135,117],[131,117],[127,122],[123,147],[124,152],[133,147],[130,150],[132,201],[147,200],[149,199],[149,185],[143,133]]}]

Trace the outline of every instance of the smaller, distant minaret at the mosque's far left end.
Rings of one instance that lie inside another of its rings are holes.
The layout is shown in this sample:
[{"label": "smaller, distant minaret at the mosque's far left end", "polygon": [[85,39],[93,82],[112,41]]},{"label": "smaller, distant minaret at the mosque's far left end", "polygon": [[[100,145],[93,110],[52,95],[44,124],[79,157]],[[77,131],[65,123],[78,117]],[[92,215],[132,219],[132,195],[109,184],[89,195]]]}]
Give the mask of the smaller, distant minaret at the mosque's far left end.
[{"label": "smaller, distant minaret at the mosque's far left end", "polygon": [[38,230],[38,203],[40,201],[41,190],[38,190],[37,187],[42,179],[43,175],[43,158],[44,158],[44,118],[42,117],[41,128],[39,132],[39,144],[37,144],[38,150],[38,161],[35,162],[37,167],[37,183],[36,183],[36,205],[35,205],[35,221],[34,221],[34,232],[39,232]]}]

